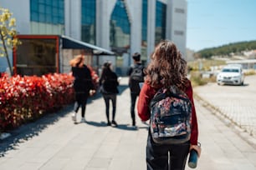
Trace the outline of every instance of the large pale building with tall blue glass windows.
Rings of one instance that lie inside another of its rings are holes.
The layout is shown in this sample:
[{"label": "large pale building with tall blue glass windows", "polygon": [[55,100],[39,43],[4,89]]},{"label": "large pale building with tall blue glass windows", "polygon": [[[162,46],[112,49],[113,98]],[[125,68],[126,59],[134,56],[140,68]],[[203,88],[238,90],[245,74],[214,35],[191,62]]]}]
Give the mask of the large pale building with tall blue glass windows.
[{"label": "large pale building with tall blue glass windows", "polygon": [[16,3],[1,0],[2,7],[15,13],[19,34],[63,35],[115,52],[115,57],[97,57],[99,67],[109,60],[125,72],[134,52],[141,52],[142,62],[148,62],[163,39],[186,52],[187,0],[23,0],[20,7]]}]

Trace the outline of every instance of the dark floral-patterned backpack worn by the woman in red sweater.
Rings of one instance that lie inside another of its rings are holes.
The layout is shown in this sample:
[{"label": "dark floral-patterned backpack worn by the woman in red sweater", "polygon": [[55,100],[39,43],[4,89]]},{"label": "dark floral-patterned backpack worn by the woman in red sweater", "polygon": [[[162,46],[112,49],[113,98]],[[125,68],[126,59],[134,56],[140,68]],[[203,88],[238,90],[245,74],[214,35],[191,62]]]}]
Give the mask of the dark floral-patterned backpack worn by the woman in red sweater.
[{"label": "dark floral-patterned backpack worn by the woman in red sweater", "polygon": [[155,143],[177,144],[190,140],[192,102],[172,86],[161,88],[151,99],[151,137]]}]

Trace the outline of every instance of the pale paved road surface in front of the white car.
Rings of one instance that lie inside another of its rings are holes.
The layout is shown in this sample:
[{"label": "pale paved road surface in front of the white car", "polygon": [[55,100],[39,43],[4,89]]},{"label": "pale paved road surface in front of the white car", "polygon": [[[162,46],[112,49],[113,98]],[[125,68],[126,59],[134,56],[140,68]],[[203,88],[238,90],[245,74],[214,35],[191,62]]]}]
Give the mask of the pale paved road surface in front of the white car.
[{"label": "pale paved road surface in front of the white car", "polygon": [[219,86],[208,83],[195,87],[195,93],[207,104],[249,134],[256,135],[256,76],[247,76],[243,86]]}]

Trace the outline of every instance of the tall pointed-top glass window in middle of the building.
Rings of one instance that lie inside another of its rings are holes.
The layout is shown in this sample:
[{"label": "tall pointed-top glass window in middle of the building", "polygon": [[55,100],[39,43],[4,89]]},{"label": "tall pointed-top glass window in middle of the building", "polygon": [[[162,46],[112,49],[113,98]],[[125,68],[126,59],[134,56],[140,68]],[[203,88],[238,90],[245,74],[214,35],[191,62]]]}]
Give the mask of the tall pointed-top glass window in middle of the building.
[{"label": "tall pointed-top glass window in middle of the building", "polygon": [[110,47],[113,52],[127,53],[130,49],[131,24],[125,2],[117,0],[110,18]]}]

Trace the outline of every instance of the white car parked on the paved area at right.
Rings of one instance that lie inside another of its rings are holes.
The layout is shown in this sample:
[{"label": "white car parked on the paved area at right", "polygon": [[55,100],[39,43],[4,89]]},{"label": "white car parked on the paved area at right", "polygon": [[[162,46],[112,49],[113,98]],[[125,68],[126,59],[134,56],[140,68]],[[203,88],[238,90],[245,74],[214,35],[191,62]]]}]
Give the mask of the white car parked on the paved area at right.
[{"label": "white car parked on the paved area at right", "polygon": [[227,65],[218,73],[216,79],[218,85],[233,84],[243,85],[244,73],[243,68],[239,65]]}]

